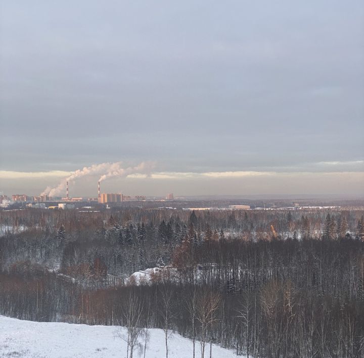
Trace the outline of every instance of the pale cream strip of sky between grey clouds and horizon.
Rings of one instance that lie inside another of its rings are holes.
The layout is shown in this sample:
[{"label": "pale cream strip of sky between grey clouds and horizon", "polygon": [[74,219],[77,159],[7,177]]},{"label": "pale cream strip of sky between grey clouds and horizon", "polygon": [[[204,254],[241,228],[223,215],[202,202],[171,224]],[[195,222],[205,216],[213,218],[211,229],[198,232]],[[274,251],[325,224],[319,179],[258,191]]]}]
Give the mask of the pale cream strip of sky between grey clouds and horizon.
[{"label": "pale cream strip of sky between grey clouds and horizon", "polygon": [[[324,180],[323,180],[324,178]],[[8,190],[4,194],[39,195],[46,186],[57,186],[65,180],[58,176],[22,177],[2,179]],[[70,196],[97,197],[98,177],[88,176],[70,183]],[[27,187],[23,186],[24,181]],[[149,176],[130,175],[114,177],[102,183],[103,193],[127,195],[209,196],[209,195],[340,195],[364,196],[360,189],[364,183],[362,172],[209,172],[172,173],[156,172]],[[284,188],[284,189],[282,189]],[[359,188],[359,189],[358,189]],[[65,196],[66,190],[57,196]]]}]

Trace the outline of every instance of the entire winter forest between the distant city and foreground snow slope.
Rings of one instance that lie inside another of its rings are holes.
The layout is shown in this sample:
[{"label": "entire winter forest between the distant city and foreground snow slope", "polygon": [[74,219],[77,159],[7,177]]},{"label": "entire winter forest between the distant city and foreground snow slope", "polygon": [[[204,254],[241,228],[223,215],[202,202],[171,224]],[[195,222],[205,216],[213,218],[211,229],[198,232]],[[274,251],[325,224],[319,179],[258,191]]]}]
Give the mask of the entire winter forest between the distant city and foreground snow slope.
[{"label": "entire winter forest between the distant city and foreground snow slope", "polygon": [[[362,215],[0,211],[0,314],[163,328],[167,347],[175,331],[206,357],[210,342],[266,358],[363,357]],[[149,284],[110,281],[156,266]]]}]

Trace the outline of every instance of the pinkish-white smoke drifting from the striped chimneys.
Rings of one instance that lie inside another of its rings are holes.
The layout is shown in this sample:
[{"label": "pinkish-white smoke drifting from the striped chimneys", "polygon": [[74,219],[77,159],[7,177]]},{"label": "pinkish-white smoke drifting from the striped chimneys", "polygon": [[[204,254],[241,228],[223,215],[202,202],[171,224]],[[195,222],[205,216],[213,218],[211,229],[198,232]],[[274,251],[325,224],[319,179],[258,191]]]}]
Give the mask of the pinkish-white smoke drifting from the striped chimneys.
[{"label": "pinkish-white smoke drifting from the striped chimneys", "polygon": [[122,162],[115,163],[101,163],[85,166],[82,169],[73,171],[68,177],[64,178],[62,182],[55,188],[47,187],[40,195],[49,195],[50,197],[60,196],[66,190],[66,183],[78,180],[81,177],[90,175],[101,175],[99,181],[104,181],[110,177],[125,177],[129,174],[150,174],[154,164],[150,162],[142,162],[133,167],[123,168]]}]

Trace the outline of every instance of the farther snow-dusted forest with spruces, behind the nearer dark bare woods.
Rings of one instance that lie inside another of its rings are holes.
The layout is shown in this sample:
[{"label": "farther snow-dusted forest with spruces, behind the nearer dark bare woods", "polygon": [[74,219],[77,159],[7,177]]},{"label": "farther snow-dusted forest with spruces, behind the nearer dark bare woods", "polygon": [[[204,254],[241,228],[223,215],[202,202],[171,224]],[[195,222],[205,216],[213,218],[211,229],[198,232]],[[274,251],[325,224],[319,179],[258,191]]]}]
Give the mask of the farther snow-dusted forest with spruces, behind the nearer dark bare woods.
[{"label": "farther snow-dusted forest with spruces, behind the nearer dark bare woods", "polygon": [[[29,217],[26,215],[29,214]],[[3,225],[24,225],[0,238],[0,265],[31,261],[64,272],[100,260],[116,276],[169,264],[177,246],[192,241],[364,240],[362,211],[186,212],[128,208],[100,213],[75,210],[0,212]]]}]

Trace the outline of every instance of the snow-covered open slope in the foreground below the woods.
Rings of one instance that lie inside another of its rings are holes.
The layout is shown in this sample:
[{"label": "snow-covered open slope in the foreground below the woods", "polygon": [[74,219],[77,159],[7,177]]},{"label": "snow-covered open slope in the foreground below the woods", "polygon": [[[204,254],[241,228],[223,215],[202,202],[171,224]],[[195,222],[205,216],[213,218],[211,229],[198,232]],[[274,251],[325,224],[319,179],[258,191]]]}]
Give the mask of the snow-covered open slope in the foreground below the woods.
[{"label": "snow-covered open slope in the foreground below the woods", "polygon": [[[0,357],[12,358],[107,358],[126,357],[126,343],[114,338],[115,326],[88,326],[84,324],[21,321],[0,316]],[[165,357],[164,332],[150,329],[146,358]],[[168,340],[170,358],[190,358],[192,341],[179,334]],[[209,353],[209,346],[206,347]],[[205,352],[207,353],[207,352]],[[134,352],[134,357],[138,357]],[[209,354],[208,354],[209,356]],[[213,345],[213,358],[236,357],[232,350]],[[143,357],[143,354],[142,354]],[[196,358],[200,358],[196,344]]]}]

